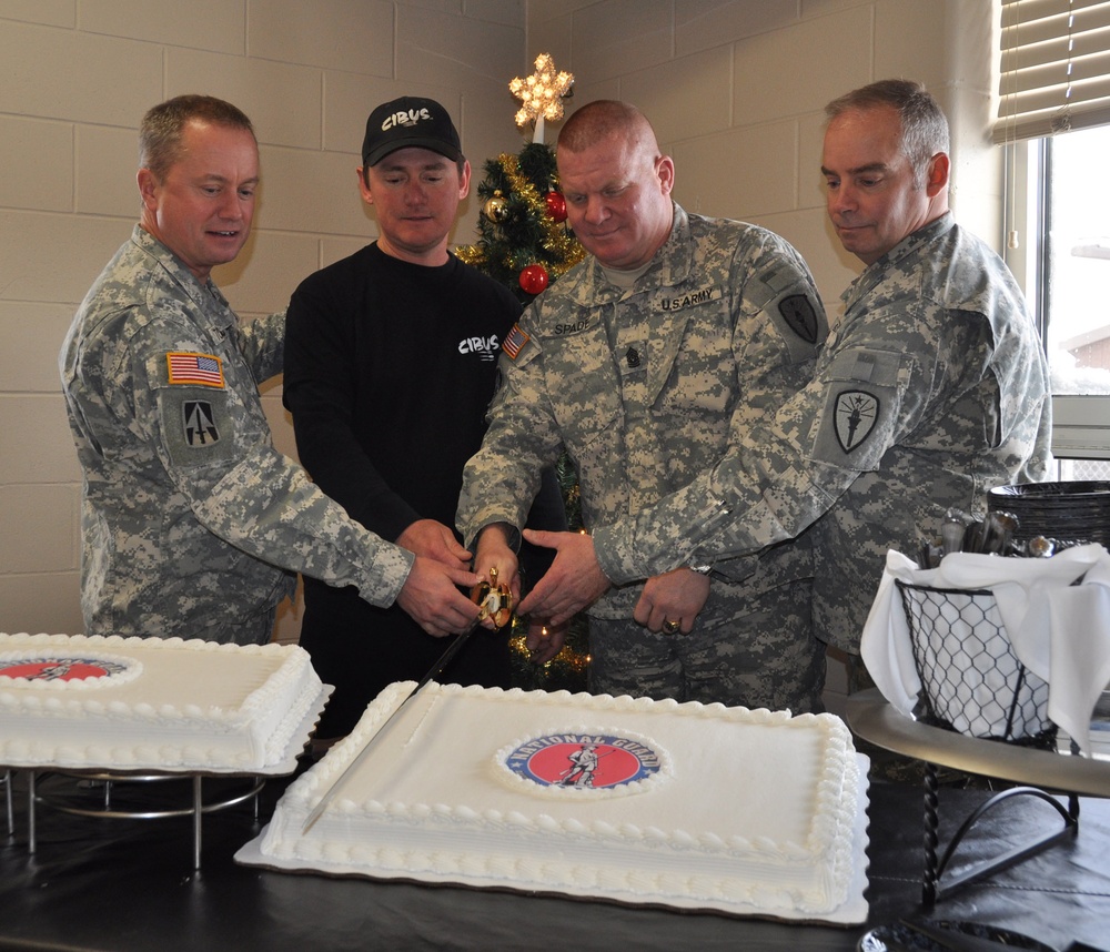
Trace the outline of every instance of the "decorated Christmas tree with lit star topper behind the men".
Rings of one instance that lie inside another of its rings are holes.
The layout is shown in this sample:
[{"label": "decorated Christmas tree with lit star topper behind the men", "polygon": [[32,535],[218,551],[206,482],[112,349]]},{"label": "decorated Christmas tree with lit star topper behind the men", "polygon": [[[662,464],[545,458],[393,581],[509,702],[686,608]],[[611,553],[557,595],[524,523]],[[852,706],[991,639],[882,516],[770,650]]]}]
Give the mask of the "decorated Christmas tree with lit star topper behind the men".
[{"label": "decorated Christmas tree with lit star topper behind the men", "polygon": [[[546,53],[536,58],[536,72],[514,79],[509,91],[522,101],[516,124],[533,123],[532,142],[518,153],[503,153],[484,165],[478,183],[482,202],[478,240],[455,249],[455,255],[509,287],[527,305],[548,284],[582,261],[585,251],[566,224],[566,202],[558,188],[555,151],[544,142],[545,120],[563,118],[563,99],[569,94],[574,77],[556,72]],[[578,504],[578,474],[563,454],[556,464],[567,519],[582,530]],[[514,618],[511,637],[513,680],[525,689],[548,691],[586,689],[589,664],[586,619],[571,622],[563,650],[542,666],[533,665],[525,646],[526,625]]]}]

